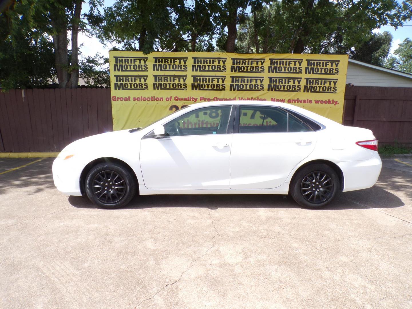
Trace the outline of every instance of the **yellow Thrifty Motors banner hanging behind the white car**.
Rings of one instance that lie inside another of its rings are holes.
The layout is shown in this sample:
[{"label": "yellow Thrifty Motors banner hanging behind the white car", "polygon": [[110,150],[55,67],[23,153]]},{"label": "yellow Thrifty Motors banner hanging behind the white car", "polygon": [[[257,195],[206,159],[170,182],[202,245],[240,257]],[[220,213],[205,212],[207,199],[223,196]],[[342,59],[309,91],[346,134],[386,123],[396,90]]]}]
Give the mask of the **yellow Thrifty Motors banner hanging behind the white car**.
[{"label": "yellow Thrifty Motors banner hanging behind the white car", "polygon": [[342,122],[347,55],[109,52],[113,129],[146,126],[185,105],[285,102]]}]

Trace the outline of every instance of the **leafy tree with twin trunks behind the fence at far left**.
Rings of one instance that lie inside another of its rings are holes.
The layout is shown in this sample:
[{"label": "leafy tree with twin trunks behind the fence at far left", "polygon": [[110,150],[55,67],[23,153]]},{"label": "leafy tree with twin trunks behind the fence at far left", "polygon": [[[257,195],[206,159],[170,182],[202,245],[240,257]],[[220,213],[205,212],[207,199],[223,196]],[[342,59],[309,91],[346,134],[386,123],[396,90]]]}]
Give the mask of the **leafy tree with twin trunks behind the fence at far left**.
[{"label": "leafy tree with twin trunks behind the fence at far left", "polygon": [[[25,0],[14,1],[7,8],[7,32],[12,42],[19,36],[21,27],[29,33],[38,33],[44,40],[52,37],[54,46],[54,70],[60,88],[75,88],[79,79],[78,32],[84,29],[81,19],[83,0]],[[92,16],[101,0],[89,0]],[[68,32],[71,31],[71,49]],[[44,41],[43,40],[43,41]],[[16,48],[16,47],[15,47]]]}]

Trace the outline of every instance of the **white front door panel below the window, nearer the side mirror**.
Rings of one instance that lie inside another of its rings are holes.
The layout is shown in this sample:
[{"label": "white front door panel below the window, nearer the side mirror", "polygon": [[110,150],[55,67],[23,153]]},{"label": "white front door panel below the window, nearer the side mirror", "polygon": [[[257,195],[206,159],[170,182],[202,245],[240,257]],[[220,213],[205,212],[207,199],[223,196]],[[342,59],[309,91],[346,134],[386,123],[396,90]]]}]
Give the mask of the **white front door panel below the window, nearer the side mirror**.
[{"label": "white front door panel below the window, nearer the side mirror", "polygon": [[145,138],[140,167],[148,189],[229,189],[232,134]]}]

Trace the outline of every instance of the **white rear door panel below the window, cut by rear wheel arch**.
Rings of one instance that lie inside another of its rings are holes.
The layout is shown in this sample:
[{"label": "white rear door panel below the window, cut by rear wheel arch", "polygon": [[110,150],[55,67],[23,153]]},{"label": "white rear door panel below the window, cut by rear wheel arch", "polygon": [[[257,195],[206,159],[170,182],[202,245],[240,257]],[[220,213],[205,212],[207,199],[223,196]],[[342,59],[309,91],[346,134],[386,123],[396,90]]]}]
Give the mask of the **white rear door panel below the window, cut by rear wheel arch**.
[{"label": "white rear door panel below the window, cut by rear wheel arch", "polygon": [[231,189],[269,189],[282,185],[290,171],[309,156],[316,132],[233,134]]}]

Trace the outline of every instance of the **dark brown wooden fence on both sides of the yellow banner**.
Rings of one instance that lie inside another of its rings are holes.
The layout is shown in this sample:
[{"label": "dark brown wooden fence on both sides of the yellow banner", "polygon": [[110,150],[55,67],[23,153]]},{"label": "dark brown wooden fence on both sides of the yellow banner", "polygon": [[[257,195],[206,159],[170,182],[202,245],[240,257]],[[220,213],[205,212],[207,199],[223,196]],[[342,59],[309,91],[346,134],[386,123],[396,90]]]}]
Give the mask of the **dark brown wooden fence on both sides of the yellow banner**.
[{"label": "dark brown wooden fence on both sides of the yellow banner", "polygon": [[[343,123],[412,146],[412,88],[346,87]],[[57,152],[112,130],[110,89],[0,92],[0,152]]]}]

